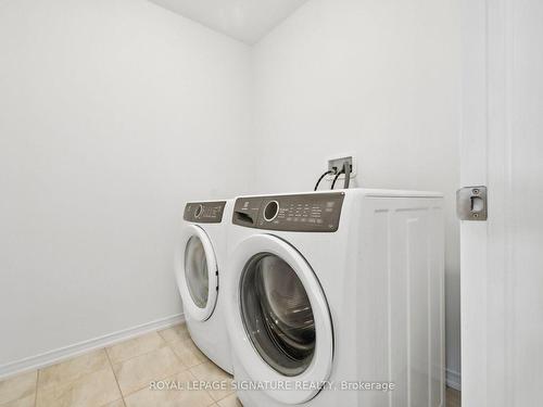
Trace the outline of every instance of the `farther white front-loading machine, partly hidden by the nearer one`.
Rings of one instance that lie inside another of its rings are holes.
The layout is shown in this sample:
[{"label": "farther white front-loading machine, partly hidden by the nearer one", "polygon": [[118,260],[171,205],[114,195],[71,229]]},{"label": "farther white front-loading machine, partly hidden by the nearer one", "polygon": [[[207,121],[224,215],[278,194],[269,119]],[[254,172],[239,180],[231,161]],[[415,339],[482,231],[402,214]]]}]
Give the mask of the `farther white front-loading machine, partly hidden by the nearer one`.
[{"label": "farther white front-loading machine, partly hidden by the nearer one", "polygon": [[194,344],[232,372],[224,317],[226,227],[232,201],[187,203],[176,250],[176,278],[185,319]]}]

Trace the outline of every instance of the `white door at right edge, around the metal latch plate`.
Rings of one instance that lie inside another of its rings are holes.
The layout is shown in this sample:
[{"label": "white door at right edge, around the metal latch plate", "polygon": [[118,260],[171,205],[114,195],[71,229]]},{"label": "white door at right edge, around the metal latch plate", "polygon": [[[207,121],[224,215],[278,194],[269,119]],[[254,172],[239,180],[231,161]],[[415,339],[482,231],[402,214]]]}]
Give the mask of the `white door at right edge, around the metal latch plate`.
[{"label": "white door at right edge, around the metal latch plate", "polygon": [[463,0],[464,407],[543,405],[543,1]]}]

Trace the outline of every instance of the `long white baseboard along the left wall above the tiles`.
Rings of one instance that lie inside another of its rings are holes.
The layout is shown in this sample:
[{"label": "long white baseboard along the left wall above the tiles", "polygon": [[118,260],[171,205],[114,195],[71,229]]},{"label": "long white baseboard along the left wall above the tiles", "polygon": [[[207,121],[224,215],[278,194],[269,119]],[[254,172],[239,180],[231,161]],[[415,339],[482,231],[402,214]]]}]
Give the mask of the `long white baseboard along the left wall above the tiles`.
[{"label": "long white baseboard along the left wall above the tiles", "polygon": [[156,319],[151,322],[142,323],[136,327],[124,329],[122,331],[112,332],[91,340],[75,343],[54,351],[49,351],[40,355],[26,357],[24,359],[11,361],[0,366],[0,379],[9,376],[23,373],[25,371],[45,368],[50,365],[58,364],[64,359],[84,354],[89,351],[113,345],[117,342],[126,341],[130,338],[141,335],[147,332],[156,331],[172,327],[185,321],[184,314],[172,315],[166,318]]}]

